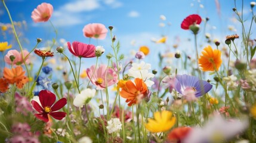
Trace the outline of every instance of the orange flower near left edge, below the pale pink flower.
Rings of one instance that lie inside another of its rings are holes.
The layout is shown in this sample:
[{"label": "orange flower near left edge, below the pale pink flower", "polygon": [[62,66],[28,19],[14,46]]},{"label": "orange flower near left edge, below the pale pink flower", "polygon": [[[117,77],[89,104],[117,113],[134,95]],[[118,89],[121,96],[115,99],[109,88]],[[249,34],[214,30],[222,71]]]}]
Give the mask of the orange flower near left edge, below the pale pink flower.
[{"label": "orange flower near left edge, below the pale pink flower", "polygon": [[23,71],[21,66],[18,66],[13,69],[8,69],[7,67],[4,68],[4,78],[5,80],[10,83],[16,83],[18,88],[23,88],[23,85],[29,82],[29,79],[24,76],[25,71]]}]

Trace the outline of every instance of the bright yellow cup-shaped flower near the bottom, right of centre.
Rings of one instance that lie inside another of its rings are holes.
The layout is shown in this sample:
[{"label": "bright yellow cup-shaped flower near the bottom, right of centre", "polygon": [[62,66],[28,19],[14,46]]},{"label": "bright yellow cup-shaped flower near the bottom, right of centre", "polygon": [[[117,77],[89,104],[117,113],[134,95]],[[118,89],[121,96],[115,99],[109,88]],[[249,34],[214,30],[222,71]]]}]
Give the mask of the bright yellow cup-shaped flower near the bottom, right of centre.
[{"label": "bright yellow cup-shaped flower near the bottom, right of centre", "polygon": [[155,119],[147,119],[148,123],[145,124],[147,130],[153,133],[165,132],[174,126],[176,119],[172,117],[171,111],[162,111],[154,113]]}]

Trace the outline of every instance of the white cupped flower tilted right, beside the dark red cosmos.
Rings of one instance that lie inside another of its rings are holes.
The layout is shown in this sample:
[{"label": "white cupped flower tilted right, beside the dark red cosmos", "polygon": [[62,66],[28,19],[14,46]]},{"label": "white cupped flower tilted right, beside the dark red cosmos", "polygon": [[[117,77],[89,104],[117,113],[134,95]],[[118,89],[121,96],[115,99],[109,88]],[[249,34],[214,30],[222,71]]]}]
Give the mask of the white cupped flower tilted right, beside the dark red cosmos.
[{"label": "white cupped flower tilted right, beside the dark red cosmos", "polygon": [[91,98],[95,96],[95,89],[84,89],[81,94],[76,95],[73,104],[76,107],[81,107],[82,105],[88,104],[91,101]]}]

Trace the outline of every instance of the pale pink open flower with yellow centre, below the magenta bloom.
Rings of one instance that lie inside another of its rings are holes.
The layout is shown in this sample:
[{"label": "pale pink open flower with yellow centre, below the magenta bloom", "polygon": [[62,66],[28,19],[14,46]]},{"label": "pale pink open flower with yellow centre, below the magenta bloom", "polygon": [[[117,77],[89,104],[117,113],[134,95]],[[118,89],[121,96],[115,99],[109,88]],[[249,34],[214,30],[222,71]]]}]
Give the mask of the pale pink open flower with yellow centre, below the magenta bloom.
[{"label": "pale pink open flower with yellow centre, below the magenta bloom", "polygon": [[87,69],[87,75],[91,82],[97,86],[97,89],[104,89],[106,86],[111,86],[118,82],[118,74],[116,74],[115,70],[108,68],[104,64],[101,64],[97,69],[95,69],[94,65],[91,66],[90,69]]}]

